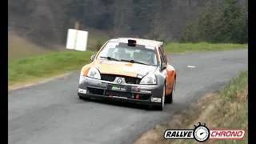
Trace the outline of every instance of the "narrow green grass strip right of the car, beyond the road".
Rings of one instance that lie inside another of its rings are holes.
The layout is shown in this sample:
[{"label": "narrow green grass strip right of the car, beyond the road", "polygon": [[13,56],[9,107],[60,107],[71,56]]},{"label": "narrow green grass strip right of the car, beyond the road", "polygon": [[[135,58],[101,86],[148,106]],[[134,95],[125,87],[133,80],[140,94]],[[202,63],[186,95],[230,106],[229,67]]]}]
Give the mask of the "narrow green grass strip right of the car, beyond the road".
[{"label": "narrow green grass strip right of the car, beyond the road", "polygon": [[248,48],[248,44],[218,43],[169,43],[164,46],[166,53],[190,53],[199,51],[219,51]]}]

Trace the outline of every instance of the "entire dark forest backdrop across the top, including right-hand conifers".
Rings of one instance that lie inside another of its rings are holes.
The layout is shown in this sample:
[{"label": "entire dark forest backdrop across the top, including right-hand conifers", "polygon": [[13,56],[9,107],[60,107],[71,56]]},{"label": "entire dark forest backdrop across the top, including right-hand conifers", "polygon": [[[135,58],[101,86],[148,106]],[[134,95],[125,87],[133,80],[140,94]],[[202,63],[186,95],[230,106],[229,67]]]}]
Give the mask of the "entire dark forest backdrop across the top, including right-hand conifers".
[{"label": "entire dark forest backdrop across the top, including right-hand conifers", "polygon": [[248,42],[248,0],[8,1],[8,30],[38,45],[65,44],[67,29],[165,42]]}]

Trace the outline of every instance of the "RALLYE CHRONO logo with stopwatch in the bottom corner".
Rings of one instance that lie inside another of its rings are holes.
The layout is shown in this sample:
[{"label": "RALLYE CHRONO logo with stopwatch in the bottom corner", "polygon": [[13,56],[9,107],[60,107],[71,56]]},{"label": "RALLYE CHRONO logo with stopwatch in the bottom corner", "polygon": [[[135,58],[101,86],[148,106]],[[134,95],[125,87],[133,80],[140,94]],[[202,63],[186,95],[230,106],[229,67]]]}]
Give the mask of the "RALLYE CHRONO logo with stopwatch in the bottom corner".
[{"label": "RALLYE CHRONO logo with stopwatch in the bottom corner", "polygon": [[166,130],[163,137],[166,139],[195,139],[206,142],[208,139],[242,139],[246,130],[238,129],[209,129],[206,124],[198,122],[194,130]]}]

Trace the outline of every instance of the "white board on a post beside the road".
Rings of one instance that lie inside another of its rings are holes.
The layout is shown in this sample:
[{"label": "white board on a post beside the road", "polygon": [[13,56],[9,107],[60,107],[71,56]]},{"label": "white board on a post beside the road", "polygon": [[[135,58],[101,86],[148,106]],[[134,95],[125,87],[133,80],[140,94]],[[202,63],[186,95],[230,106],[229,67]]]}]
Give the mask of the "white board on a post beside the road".
[{"label": "white board on a post beside the road", "polygon": [[69,29],[66,38],[66,49],[86,51],[88,31]]}]

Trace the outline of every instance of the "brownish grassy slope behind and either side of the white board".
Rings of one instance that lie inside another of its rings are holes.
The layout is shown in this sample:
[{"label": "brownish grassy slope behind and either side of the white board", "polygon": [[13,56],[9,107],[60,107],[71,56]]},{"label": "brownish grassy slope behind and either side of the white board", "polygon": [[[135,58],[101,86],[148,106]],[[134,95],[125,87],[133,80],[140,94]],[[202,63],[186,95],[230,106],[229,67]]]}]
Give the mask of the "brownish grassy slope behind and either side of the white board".
[{"label": "brownish grassy slope behind and either side of the white board", "polygon": [[[87,48],[97,49],[110,36],[102,30],[89,29]],[[8,32],[8,62],[36,55],[49,54],[52,52],[66,51],[65,45],[40,46],[27,38],[22,38],[12,31]]]}]

